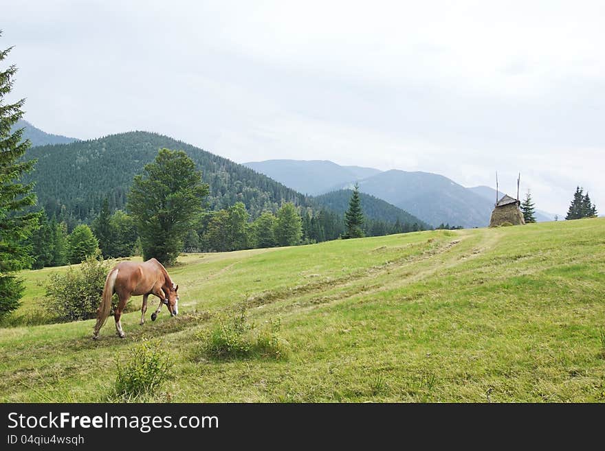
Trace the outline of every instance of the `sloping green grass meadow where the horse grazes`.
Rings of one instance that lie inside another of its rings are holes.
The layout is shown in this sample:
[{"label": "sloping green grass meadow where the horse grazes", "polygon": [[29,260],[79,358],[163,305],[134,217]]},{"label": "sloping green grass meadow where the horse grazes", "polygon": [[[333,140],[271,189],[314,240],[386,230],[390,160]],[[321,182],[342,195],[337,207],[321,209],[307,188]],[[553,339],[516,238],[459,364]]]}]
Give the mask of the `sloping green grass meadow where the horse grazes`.
[{"label": "sloping green grass meadow where the horse grazes", "polygon": [[[0,329],[2,402],[96,402],[115,356],[161,338],[173,377],[150,401],[605,402],[605,220],[428,231],[186,255],[180,314]],[[15,317],[53,269],[23,273]],[[54,269],[63,270],[63,268]],[[154,310],[154,298],[148,313]],[[131,300],[133,310],[141,298]],[[217,316],[279,321],[287,358],[200,354]],[[15,320],[12,324],[17,324]]]}]

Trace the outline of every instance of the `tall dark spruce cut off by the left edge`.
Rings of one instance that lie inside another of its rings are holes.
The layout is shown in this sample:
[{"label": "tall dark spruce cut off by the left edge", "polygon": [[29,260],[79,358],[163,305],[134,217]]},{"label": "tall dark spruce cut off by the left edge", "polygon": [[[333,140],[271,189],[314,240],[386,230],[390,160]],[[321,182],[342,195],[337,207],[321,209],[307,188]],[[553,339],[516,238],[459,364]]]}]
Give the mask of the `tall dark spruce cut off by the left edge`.
[{"label": "tall dark spruce cut off by the left edge", "polygon": [[[0,32],[1,36],[1,32]],[[0,62],[12,47],[0,50]],[[23,282],[14,273],[31,264],[28,246],[23,242],[36,228],[39,213],[27,212],[36,205],[33,184],[23,185],[21,178],[30,172],[35,161],[23,161],[30,141],[21,142],[23,128],[11,133],[11,127],[23,116],[25,100],[4,104],[4,97],[12,89],[14,65],[0,71],[0,316],[19,307]]]}]

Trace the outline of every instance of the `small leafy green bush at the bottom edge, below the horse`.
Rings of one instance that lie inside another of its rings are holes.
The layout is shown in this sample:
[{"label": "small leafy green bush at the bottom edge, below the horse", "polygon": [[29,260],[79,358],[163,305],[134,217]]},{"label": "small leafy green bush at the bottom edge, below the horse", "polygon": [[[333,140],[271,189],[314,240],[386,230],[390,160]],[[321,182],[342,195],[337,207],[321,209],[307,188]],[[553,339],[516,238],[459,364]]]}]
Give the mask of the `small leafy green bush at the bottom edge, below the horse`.
[{"label": "small leafy green bush at the bottom edge, below the horse", "polygon": [[162,349],[161,340],[143,340],[131,349],[124,366],[116,360],[118,377],[115,379],[116,400],[137,400],[152,395],[172,376],[174,362],[168,351]]}]

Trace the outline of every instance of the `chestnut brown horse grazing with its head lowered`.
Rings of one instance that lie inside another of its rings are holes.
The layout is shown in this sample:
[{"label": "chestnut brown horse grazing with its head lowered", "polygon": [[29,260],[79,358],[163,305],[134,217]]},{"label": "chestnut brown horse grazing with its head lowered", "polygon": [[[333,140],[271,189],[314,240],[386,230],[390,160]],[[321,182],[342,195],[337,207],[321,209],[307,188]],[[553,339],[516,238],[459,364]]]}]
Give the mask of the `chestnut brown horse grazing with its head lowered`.
[{"label": "chestnut brown horse grazing with its head lowered", "polygon": [[124,338],[122,323],[120,318],[122,311],[126,307],[126,303],[131,296],[143,295],[143,306],[141,308],[141,325],[145,322],[145,312],[147,311],[147,298],[149,294],[159,297],[157,310],[151,314],[151,321],[155,321],[157,314],[162,310],[162,304],[166,304],[170,316],[175,316],[179,312],[179,296],[177,290],[178,285],[173,284],[172,279],[166,272],[166,268],[162,266],[155,258],[149,259],[143,263],[135,262],[120,262],[113,267],[103,288],[102,301],[97,310],[97,323],[94,328],[94,336],[99,338],[99,330],[103,327],[109,310],[111,310],[111,297],[113,293],[118,294],[120,302],[118,307],[113,312],[115,319],[115,329],[120,338]]}]

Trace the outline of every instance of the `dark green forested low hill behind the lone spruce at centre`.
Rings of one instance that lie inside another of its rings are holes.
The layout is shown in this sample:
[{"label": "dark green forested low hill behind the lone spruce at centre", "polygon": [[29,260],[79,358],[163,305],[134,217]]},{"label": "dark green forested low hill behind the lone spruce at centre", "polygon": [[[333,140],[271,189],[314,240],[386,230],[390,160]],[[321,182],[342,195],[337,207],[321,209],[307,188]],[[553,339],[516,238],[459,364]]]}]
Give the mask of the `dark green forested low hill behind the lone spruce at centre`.
[{"label": "dark green forested low hill behind the lone spruce at centre", "polygon": [[[340,189],[338,191],[316,196],[314,201],[319,205],[324,206],[326,209],[342,214],[349,208],[349,200],[351,200],[352,193],[353,191],[351,189]],[[365,193],[360,193],[360,198],[364,215],[368,218],[391,223],[395,223],[397,220],[402,224],[416,223],[422,229],[430,229],[430,225],[426,224],[426,222],[423,222],[407,211],[395,207],[395,205],[391,205],[382,199]]]}]

